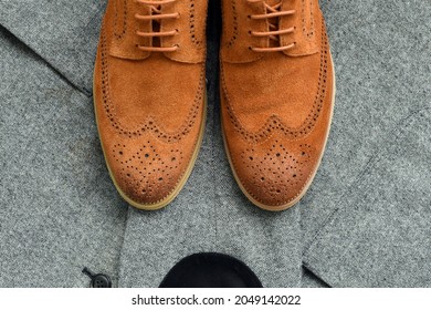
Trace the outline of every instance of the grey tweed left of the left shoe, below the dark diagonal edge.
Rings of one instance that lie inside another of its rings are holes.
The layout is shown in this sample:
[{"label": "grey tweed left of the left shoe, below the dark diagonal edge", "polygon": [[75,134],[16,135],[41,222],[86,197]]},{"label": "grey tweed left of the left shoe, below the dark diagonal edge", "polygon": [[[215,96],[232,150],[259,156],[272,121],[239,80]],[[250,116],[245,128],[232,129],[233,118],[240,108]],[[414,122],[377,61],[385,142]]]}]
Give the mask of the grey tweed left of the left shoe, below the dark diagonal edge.
[{"label": "grey tweed left of the left shoe, below the dark diagonal edge", "polygon": [[127,213],[92,100],[4,29],[0,42],[0,287],[85,287],[84,266],[116,282]]}]

